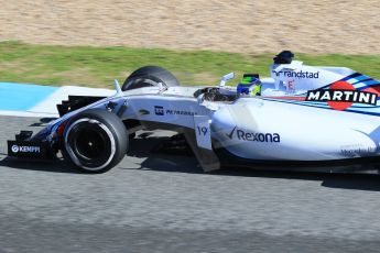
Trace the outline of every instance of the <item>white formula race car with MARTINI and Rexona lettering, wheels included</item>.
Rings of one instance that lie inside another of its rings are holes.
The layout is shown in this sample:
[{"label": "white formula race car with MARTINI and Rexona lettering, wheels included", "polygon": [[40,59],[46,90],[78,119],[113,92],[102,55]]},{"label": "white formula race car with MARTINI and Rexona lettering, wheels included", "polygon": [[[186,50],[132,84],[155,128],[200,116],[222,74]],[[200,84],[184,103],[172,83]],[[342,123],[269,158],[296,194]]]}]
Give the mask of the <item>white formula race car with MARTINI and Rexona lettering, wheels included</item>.
[{"label": "white formula race car with MARTINI and Rexona lettering, wheels included", "polygon": [[[307,66],[281,52],[260,92],[181,87],[167,70],[132,73],[116,95],[70,97],[61,118],[8,141],[10,156],[55,157],[104,173],[126,155],[138,130],[183,133],[204,170],[220,165],[334,172],[380,163],[380,82],[345,67]],[[256,77],[258,75],[245,75]],[[260,95],[260,96],[258,96]]]}]

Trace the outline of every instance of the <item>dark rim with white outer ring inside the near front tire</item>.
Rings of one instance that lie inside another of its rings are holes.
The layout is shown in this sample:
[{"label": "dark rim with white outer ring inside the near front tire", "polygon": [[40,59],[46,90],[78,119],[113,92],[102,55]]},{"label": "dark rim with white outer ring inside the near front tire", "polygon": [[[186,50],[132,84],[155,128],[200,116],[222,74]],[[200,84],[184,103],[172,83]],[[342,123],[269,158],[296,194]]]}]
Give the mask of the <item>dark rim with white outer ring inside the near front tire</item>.
[{"label": "dark rim with white outer ring inside the near front tire", "polygon": [[112,133],[94,119],[80,119],[70,124],[65,147],[72,161],[88,170],[105,168],[116,153]]}]

